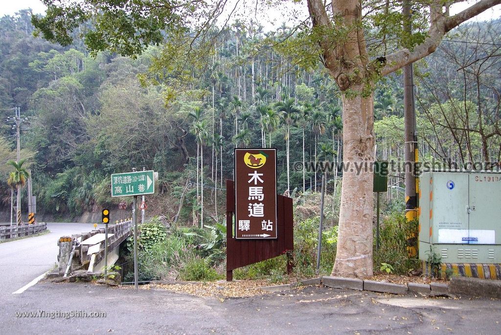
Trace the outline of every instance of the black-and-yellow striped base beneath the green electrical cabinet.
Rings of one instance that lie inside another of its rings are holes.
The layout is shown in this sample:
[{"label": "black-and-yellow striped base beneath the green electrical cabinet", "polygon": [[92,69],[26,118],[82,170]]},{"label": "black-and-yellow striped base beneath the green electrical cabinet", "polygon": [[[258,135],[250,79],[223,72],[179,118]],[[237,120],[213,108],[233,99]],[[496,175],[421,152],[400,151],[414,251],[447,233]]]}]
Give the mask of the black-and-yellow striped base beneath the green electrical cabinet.
[{"label": "black-and-yellow striped base beneath the green electrical cabinet", "polygon": [[[431,273],[430,266],[425,261],[421,262],[423,273]],[[440,265],[440,276],[445,278],[447,270],[450,275],[480,278],[480,279],[501,279],[501,264],[478,264],[478,263],[442,263]]]}]

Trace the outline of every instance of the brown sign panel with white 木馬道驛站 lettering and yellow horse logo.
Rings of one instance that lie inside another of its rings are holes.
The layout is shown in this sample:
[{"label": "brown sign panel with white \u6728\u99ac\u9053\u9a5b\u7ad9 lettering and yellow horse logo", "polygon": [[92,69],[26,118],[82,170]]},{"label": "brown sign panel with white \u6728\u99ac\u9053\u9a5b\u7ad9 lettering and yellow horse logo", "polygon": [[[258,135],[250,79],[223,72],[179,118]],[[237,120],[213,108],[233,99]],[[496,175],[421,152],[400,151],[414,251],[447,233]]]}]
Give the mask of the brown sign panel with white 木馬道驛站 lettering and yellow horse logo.
[{"label": "brown sign panel with white \u6728\u99ac\u9053\u9a5b\u7ad9 lettering and yellow horse logo", "polygon": [[276,239],[277,149],[235,149],[235,238]]}]

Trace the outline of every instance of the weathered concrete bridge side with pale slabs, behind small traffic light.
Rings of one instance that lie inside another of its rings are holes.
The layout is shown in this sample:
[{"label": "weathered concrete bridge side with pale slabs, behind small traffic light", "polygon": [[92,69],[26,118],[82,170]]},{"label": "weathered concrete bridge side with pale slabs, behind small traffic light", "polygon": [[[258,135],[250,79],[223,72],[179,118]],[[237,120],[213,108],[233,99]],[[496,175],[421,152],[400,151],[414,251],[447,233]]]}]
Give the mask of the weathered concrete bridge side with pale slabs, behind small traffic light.
[{"label": "weathered concrete bridge side with pale slabs, behind small traffic light", "polygon": [[[108,225],[108,264],[104,261],[105,229],[95,229],[87,233],[62,236],[59,241],[59,273],[72,270],[102,272],[105,266],[113,265],[118,259],[120,244],[132,236],[132,219]],[[71,262],[69,269],[68,263]]]}]

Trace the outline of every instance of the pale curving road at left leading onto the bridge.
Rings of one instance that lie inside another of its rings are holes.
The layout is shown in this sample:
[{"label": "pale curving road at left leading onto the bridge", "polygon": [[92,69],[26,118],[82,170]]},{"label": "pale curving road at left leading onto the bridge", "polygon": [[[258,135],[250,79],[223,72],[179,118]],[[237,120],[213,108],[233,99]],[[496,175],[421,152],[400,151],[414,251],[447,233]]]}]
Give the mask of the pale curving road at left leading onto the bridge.
[{"label": "pale curving road at left leading onto the bridge", "polygon": [[90,223],[47,223],[51,232],[0,244],[0,299],[50,270],[58,259],[61,236],[90,231]]}]

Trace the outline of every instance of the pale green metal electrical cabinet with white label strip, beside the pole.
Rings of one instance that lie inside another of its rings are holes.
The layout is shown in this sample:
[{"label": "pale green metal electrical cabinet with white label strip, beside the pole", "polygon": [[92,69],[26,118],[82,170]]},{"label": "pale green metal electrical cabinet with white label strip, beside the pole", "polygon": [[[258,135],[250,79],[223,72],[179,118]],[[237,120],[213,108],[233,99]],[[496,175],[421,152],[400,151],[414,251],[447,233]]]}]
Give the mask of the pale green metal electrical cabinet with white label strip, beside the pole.
[{"label": "pale green metal electrical cabinet with white label strip, beside the pole", "polygon": [[419,259],[501,263],[500,173],[425,172],[419,186]]}]

